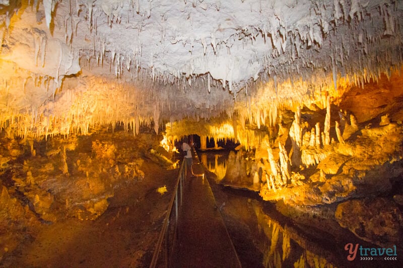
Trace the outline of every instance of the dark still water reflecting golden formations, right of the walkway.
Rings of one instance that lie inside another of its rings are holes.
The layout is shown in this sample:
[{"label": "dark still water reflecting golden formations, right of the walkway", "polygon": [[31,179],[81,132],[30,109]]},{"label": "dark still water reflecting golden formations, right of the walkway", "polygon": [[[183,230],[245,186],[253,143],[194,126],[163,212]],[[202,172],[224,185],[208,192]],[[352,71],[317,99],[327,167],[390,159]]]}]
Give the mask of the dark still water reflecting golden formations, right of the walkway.
[{"label": "dark still water reflecting golden formations, right of the walkway", "polygon": [[[200,154],[201,162],[217,175],[218,181],[225,176],[228,154]],[[216,201],[243,267],[332,268],[353,264],[347,262],[344,241],[332,241],[329,239],[331,234],[326,235],[325,230],[317,231],[315,235],[310,230],[315,227],[299,225],[284,217],[251,191],[228,187],[217,191],[226,194],[222,200],[220,196],[223,195],[217,195]],[[256,256],[260,256],[259,259]]]}]

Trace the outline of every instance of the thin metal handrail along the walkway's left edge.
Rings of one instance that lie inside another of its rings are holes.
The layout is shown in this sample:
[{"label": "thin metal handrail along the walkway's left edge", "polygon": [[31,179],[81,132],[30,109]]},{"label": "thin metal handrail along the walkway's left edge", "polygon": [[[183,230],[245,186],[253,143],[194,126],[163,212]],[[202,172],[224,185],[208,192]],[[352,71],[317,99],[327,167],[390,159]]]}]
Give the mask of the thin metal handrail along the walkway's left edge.
[{"label": "thin metal handrail along the walkway's left edge", "polygon": [[[155,246],[155,251],[153,255],[153,259],[151,260],[150,268],[154,268],[157,265],[158,257],[161,251],[162,247],[162,242],[164,241],[165,238],[165,267],[168,267],[169,263],[169,253],[168,252],[168,242],[169,242],[169,222],[170,222],[170,217],[172,214],[172,208],[175,205],[175,233],[176,233],[176,228],[178,225],[178,205],[182,205],[182,199],[183,199],[183,184],[184,184],[184,178],[186,177],[186,160],[183,159],[182,164],[179,169],[179,174],[178,174],[178,179],[175,184],[175,188],[173,190],[174,194],[172,195],[171,202],[169,203],[168,211],[165,216],[164,224],[162,226],[160,235],[158,237],[157,244]],[[178,190],[180,191],[180,204],[178,204]]]}]

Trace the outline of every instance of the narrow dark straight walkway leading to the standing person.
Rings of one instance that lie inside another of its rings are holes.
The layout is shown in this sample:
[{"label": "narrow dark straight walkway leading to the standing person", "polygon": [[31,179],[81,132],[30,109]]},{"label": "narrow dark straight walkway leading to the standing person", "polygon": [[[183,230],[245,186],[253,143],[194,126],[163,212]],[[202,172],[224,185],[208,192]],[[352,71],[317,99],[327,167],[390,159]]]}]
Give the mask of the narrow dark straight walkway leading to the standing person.
[{"label": "narrow dark straight walkway leading to the standing person", "polygon": [[177,236],[170,265],[173,267],[241,267],[218,209],[205,167],[193,150],[192,171],[184,185]]}]

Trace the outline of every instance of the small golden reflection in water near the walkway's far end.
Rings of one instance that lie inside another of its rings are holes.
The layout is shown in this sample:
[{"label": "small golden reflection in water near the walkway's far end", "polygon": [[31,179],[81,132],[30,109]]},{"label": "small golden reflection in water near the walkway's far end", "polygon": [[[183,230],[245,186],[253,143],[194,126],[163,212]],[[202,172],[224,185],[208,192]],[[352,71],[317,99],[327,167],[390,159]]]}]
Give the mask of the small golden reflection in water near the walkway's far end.
[{"label": "small golden reflection in water near the walkway's far end", "polygon": [[217,182],[220,182],[227,171],[228,151],[201,152],[199,153],[201,163],[217,176]]}]

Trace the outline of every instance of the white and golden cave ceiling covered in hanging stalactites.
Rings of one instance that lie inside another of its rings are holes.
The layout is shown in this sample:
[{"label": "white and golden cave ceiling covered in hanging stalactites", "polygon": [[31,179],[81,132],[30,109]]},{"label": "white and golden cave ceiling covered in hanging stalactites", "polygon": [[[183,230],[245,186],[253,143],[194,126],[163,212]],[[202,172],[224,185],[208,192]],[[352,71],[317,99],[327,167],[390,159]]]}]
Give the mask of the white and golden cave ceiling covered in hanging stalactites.
[{"label": "white and golden cave ceiling covered in hanging stalactites", "polygon": [[242,115],[403,57],[403,1],[0,0],[0,14],[0,122],[20,134]]}]

